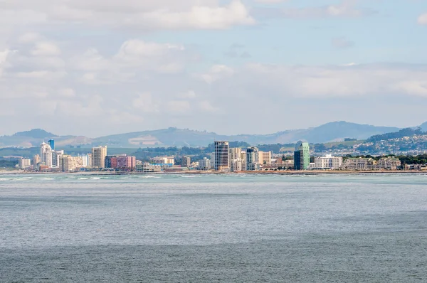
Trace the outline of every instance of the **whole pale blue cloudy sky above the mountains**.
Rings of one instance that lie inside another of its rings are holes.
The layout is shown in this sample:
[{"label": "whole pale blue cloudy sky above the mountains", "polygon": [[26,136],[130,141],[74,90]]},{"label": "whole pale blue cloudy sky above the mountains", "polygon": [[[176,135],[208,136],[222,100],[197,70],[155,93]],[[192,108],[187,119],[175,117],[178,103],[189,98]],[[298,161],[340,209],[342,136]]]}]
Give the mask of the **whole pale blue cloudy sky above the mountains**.
[{"label": "whole pale blue cloudy sky above the mountains", "polygon": [[427,121],[425,0],[0,0],[0,135]]}]

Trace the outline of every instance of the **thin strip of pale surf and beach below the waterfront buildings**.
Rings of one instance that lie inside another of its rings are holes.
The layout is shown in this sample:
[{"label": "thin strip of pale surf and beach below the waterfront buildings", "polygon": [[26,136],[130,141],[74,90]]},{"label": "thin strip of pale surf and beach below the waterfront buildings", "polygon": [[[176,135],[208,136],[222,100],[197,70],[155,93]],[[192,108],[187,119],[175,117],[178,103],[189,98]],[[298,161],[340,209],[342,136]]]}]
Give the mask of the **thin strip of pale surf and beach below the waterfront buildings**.
[{"label": "thin strip of pale surf and beach below the waterfront buildings", "polygon": [[427,174],[427,171],[404,171],[404,170],[312,170],[312,171],[239,171],[239,172],[218,172],[218,171],[171,171],[171,172],[102,172],[102,171],[93,171],[93,172],[26,172],[26,171],[0,171],[1,175],[56,175],[56,174],[73,174],[73,175],[83,175],[83,176],[114,176],[114,175],[239,175],[239,174],[251,174],[251,175],[320,175],[320,174],[331,174],[331,175],[346,175],[346,174],[384,174],[384,173],[393,173],[393,174],[407,174],[407,173],[416,173]]}]

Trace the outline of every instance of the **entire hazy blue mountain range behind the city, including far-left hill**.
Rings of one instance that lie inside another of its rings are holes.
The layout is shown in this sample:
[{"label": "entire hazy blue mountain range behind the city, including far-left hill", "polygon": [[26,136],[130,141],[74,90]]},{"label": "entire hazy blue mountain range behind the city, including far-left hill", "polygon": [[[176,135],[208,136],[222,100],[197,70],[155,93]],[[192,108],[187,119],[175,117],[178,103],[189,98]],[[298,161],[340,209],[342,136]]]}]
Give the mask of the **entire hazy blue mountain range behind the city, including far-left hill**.
[{"label": "entire hazy blue mountain range behind the city, including far-left hill", "polygon": [[[427,122],[421,124],[427,131]],[[90,147],[104,144],[111,147],[148,147],[148,146],[207,146],[214,140],[247,142],[248,144],[290,144],[298,140],[310,143],[342,141],[344,138],[367,139],[376,134],[399,131],[397,127],[376,127],[367,124],[349,122],[330,122],[309,129],[286,130],[274,134],[237,134],[221,135],[213,132],[190,129],[159,129],[154,131],[115,134],[106,137],[57,136],[43,129],[18,132],[12,136],[0,137],[0,146],[38,146],[48,139],[55,139],[58,149],[65,146]]]}]

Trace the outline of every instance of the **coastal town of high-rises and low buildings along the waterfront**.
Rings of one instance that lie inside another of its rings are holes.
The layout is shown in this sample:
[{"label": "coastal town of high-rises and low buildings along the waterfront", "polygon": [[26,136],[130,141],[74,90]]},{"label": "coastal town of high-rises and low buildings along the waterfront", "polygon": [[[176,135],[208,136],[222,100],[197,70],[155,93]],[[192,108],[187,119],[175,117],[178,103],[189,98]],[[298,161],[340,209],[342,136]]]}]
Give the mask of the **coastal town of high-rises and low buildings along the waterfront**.
[{"label": "coastal town of high-rises and low buildings along the waterfront", "polygon": [[33,159],[20,158],[17,167],[24,172],[122,172],[122,173],[209,173],[209,172],[343,172],[343,171],[411,171],[427,170],[423,164],[402,164],[396,156],[351,157],[314,151],[307,142],[297,142],[292,154],[261,151],[255,146],[231,147],[230,142],[215,141],[208,157],[155,156],[149,161],[127,154],[109,155],[107,146],[95,146],[88,154],[72,156],[57,150],[55,141],[40,144]]}]

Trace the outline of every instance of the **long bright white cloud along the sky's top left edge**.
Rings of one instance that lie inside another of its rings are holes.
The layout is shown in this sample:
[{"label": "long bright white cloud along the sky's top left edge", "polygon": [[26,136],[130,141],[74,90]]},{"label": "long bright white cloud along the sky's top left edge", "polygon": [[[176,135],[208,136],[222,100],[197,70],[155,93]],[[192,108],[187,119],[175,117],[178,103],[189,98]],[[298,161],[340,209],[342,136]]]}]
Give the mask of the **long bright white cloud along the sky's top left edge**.
[{"label": "long bright white cloud along the sky's top left edge", "polygon": [[4,0],[2,8],[0,16],[14,25],[48,21],[156,30],[223,29],[255,23],[240,0],[225,5],[214,0]]}]

